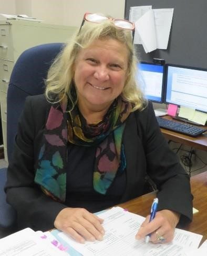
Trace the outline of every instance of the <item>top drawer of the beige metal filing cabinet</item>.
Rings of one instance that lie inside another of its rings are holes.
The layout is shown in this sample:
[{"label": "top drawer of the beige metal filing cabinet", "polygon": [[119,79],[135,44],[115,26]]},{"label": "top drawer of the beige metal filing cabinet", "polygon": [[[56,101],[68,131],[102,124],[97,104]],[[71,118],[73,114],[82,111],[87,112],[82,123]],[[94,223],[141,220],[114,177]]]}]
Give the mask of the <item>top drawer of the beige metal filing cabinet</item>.
[{"label": "top drawer of the beige metal filing cabinet", "polygon": [[0,25],[0,58],[14,60],[12,25]]}]

